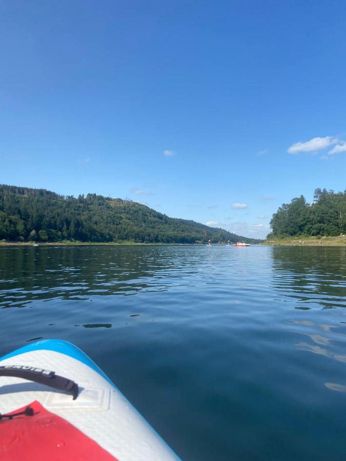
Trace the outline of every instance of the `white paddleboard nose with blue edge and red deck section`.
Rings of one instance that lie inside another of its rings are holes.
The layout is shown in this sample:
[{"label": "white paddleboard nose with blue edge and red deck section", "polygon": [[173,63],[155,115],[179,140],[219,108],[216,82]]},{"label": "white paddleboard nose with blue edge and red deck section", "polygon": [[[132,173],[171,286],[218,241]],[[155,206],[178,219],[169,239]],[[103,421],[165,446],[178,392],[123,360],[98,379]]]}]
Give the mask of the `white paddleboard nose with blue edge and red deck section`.
[{"label": "white paddleboard nose with blue edge and red deck section", "polygon": [[[20,409],[24,414],[11,417]],[[105,373],[60,340],[31,343],[0,360],[0,444],[2,461],[179,459]]]}]

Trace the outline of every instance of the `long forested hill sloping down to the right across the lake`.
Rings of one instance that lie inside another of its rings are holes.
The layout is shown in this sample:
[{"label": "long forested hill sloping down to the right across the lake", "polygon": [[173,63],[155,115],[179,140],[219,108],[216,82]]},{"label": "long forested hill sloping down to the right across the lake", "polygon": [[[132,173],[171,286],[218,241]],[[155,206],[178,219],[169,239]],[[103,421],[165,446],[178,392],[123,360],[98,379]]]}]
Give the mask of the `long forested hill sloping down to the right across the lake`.
[{"label": "long forested hill sloping down to the right across the lake", "polygon": [[169,218],[148,206],[96,194],[65,197],[44,189],[0,185],[0,240],[157,243],[248,243],[219,228]]}]

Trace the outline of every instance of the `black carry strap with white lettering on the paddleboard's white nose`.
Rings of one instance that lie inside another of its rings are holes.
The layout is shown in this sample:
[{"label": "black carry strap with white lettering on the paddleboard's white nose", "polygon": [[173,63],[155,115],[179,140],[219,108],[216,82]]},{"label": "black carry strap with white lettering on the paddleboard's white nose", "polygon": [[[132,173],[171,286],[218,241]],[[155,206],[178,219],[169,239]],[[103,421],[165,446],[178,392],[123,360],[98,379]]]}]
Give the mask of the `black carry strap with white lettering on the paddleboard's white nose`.
[{"label": "black carry strap with white lettering on the paddleboard's white nose", "polygon": [[3,365],[0,366],[0,376],[14,376],[15,378],[24,378],[39,384],[62,390],[73,396],[76,400],[78,395],[78,385],[68,378],[63,378],[55,374],[55,371],[45,370],[25,365]]}]

